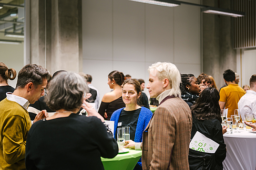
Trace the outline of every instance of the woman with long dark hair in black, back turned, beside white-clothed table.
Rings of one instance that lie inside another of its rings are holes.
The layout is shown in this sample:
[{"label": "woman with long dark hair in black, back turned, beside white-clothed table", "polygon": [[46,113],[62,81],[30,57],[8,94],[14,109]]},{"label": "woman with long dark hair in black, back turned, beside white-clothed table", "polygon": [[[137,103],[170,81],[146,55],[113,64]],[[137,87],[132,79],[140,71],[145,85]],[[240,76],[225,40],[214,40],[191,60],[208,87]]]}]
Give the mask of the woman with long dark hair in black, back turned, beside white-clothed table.
[{"label": "woman with long dark hair in black, back turned, beside white-clothed table", "polygon": [[208,87],[201,92],[196,104],[191,108],[193,119],[191,139],[198,131],[217,142],[219,147],[215,153],[189,149],[190,169],[223,169],[222,162],[226,158],[227,151],[222,134],[219,98],[218,90]]}]

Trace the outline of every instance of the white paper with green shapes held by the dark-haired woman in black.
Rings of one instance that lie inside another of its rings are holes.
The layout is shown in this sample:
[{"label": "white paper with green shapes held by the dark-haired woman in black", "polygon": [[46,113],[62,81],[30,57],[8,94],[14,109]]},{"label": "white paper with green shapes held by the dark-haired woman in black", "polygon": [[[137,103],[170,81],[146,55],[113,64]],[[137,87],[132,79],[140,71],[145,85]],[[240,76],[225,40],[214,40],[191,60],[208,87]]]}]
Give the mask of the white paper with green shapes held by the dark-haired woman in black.
[{"label": "white paper with green shapes held by the dark-haired woman in black", "polygon": [[219,144],[207,138],[199,131],[194,134],[193,139],[190,141],[189,148],[199,152],[215,153]]}]

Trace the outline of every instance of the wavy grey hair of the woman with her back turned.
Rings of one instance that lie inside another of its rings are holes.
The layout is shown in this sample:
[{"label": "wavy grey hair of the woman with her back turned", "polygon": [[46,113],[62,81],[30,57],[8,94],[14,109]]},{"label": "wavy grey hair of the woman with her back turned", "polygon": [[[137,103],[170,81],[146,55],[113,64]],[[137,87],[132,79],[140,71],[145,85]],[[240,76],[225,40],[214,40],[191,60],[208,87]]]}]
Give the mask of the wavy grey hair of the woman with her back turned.
[{"label": "wavy grey hair of the woman with her back turned", "polygon": [[52,110],[73,111],[81,107],[88,92],[89,87],[79,74],[62,72],[50,82],[45,102]]}]

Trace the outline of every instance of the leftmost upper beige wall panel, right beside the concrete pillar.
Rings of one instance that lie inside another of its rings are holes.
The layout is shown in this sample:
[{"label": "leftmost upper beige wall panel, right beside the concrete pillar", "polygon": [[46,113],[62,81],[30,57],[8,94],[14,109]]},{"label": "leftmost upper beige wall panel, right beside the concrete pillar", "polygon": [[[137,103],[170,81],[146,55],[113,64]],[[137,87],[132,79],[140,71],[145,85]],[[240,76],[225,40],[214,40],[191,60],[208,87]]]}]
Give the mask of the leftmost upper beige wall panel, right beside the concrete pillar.
[{"label": "leftmost upper beige wall panel, right beside the concrete pillar", "polygon": [[82,2],[83,58],[112,59],[112,1]]}]

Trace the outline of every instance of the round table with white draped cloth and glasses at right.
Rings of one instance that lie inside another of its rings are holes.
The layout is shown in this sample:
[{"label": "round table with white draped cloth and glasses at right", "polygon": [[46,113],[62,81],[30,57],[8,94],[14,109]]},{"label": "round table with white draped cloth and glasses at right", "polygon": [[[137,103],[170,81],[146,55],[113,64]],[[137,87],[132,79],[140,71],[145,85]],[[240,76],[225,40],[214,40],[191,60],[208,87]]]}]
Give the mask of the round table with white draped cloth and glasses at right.
[{"label": "round table with white draped cloth and glasses at right", "polygon": [[255,170],[256,132],[239,130],[241,133],[223,134],[227,156],[223,161],[225,170]]}]

